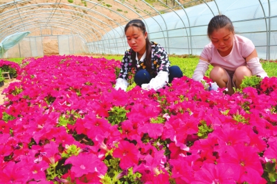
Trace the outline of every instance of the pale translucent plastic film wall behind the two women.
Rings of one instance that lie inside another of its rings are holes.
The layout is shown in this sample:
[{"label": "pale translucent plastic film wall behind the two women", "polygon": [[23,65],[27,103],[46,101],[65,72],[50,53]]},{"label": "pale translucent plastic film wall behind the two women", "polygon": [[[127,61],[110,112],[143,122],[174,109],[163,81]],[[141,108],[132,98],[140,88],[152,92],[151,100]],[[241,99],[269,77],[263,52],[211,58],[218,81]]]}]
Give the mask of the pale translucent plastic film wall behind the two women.
[{"label": "pale translucent plastic film wall behind the two women", "polygon": [[[226,15],[233,21],[235,33],[252,40],[260,58],[277,58],[277,1],[217,0],[198,6],[168,12],[145,19],[152,41],[166,47],[170,54],[200,55],[210,40],[207,24],[214,15]],[[120,38],[124,33],[116,28],[112,39],[116,39],[113,53],[124,52]],[[112,33],[109,33],[112,35]],[[105,35],[102,40],[111,37]],[[118,48],[119,47],[119,48]]]}]

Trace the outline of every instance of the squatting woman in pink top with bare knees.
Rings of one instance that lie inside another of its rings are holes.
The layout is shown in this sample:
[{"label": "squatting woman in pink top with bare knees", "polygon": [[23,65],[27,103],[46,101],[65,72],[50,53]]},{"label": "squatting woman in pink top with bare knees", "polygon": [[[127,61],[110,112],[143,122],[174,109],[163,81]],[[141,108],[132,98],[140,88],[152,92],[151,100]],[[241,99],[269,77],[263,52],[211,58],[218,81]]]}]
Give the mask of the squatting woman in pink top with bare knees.
[{"label": "squatting woman in pink top with bare knees", "polygon": [[202,81],[211,64],[210,78],[220,88],[226,88],[227,94],[233,94],[233,87],[240,88],[244,76],[265,73],[255,46],[250,39],[235,35],[231,20],[225,15],[217,15],[208,24],[208,37],[211,43],[204,47],[199,63],[193,73],[193,80]]}]

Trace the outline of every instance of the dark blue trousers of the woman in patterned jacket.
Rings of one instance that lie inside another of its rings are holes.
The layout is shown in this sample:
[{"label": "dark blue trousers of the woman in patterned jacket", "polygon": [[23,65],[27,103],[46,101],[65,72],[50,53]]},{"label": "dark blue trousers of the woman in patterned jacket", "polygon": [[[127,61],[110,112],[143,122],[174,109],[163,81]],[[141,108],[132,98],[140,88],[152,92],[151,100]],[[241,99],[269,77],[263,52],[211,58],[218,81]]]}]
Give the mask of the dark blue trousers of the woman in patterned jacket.
[{"label": "dark blue trousers of the woman in patterned jacket", "polygon": [[[183,77],[183,73],[181,72],[181,69],[179,68],[179,66],[170,66],[168,73],[169,73],[168,83],[171,83],[175,77],[176,78]],[[141,84],[148,84],[151,79],[152,79],[152,76],[145,69],[138,71],[136,75],[134,75],[134,82],[136,82],[136,85],[139,85],[139,86],[141,86]]]}]

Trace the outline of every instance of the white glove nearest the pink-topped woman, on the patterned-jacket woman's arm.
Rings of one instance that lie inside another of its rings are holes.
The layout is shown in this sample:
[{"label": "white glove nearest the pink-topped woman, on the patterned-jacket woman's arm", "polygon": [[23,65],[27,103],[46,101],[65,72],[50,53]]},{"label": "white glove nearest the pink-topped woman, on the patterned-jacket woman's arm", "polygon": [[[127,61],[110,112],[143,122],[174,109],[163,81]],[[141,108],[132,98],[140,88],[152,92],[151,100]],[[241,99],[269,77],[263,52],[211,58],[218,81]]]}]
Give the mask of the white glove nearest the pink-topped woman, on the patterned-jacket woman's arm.
[{"label": "white glove nearest the pink-topped woman, on the patterned-jacket woman's arm", "polygon": [[152,80],[150,80],[149,84],[142,84],[142,89],[154,89],[158,90],[161,89],[163,86],[166,86],[168,83],[168,72],[167,71],[159,71],[158,75]]}]

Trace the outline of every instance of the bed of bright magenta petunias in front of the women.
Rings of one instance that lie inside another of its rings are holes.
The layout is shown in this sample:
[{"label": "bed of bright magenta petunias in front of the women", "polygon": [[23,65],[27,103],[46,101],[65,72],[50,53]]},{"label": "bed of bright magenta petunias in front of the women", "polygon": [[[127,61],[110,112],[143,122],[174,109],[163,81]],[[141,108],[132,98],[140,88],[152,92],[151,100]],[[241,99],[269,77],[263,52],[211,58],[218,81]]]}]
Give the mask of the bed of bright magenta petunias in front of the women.
[{"label": "bed of bright magenta petunias in front of the women", "polygon": [[276,77],[234,95],[188,77],[116,91],[113,59],[28,58],[3,91],[0,183],[273,183]]}]

